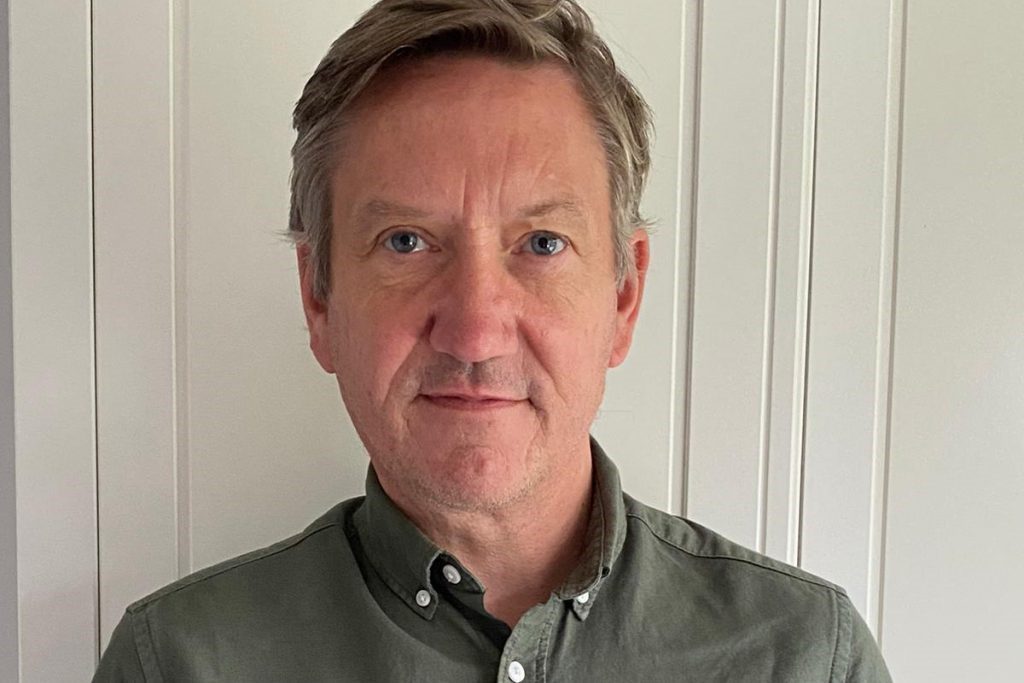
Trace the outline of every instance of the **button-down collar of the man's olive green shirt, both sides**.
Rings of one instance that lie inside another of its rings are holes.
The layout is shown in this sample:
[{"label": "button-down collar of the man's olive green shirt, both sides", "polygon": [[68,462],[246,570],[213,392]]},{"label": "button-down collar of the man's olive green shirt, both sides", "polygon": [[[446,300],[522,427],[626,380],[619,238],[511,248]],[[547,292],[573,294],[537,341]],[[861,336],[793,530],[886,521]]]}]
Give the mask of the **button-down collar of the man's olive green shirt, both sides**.
[{"label": "button-down collar of the man's olive green shirt, both sides", "polygon": [[[626,541],[626,508],[618,470],[593,437],[590,450],[594,489],[587,544],[580,563],[555,591],[558,599],[571,602],[573,612],[581,620],[590,612]],[[368,559],[383,581],[410,609],[424,618],[432,618],[437,607],[437,591],[431,582],[431,568],[444,551],[424,536],[388,498],[373,466],[367,472],[367,497],[355,513],[355,526]],[[458,558],[446,561],[457,563]],[[459,568],[468,574],[461,564]],[[429,596],[429,602],[423,599],[423,591]]]}]

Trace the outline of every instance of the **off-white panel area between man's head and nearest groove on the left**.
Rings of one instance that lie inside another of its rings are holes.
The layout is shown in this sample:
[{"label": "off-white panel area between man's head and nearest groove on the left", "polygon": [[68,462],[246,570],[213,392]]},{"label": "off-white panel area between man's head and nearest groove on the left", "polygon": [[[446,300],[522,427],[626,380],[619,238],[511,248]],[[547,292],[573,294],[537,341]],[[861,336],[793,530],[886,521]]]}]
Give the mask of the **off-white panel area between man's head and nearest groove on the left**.
[{"label": "off-white panel area between man's head and nearest groove on the left", "polygon": [[191,3],[180,226],[191,568],[361,494],[367,461],[307,348],[287,228],[291,110],[371,2]]}]

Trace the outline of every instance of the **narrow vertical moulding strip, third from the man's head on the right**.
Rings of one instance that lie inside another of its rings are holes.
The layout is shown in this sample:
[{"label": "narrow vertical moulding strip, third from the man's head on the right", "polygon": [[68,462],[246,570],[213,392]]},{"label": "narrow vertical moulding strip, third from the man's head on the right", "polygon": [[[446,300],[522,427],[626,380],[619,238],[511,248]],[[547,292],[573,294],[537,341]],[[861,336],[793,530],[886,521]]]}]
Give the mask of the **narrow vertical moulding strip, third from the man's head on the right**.
[{"label": "narrow vertical moulding strip, third from the man's head on the right", "polygon": [[790,452],[790,519],[786,561],[800,565],[804,515],[804,446],[807,417],[807,365],[810,352],[811,284],[814,252],[814,187],[817,167],[818,63],[821,0],[809,0],[806,83],[804,89],[804,156],[801,181],[800,254],[797,268],[797,344],[794,361],[793,444]]}]

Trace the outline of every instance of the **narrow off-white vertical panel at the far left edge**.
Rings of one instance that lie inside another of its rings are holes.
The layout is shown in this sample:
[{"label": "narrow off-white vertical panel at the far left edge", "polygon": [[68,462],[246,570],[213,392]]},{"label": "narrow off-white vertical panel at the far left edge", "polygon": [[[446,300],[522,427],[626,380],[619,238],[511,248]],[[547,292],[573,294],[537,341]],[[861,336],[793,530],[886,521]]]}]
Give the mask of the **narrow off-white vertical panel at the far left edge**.
[{"label": "narrow off-white vertical panel at the far left edge", "polygon": [[96,661],[92,184],[86,0],[10,2],[22,680]]}]

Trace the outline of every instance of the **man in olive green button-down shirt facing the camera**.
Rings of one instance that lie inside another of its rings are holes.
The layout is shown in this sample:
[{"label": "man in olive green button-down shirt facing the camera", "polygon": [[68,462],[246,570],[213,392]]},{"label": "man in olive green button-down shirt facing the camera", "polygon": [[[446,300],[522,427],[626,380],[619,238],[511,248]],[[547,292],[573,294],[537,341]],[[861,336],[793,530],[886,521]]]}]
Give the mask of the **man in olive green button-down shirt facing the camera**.
[{"label": "man in olive green button-down shirt facing the camera", "polygon": [[383,0],[295,111],[310,346],[367,496],[128,608],[96,680],[888,680],[842,591],[625,496],[589,429],[649,116],[569,0]]}]

